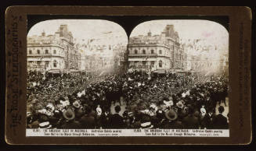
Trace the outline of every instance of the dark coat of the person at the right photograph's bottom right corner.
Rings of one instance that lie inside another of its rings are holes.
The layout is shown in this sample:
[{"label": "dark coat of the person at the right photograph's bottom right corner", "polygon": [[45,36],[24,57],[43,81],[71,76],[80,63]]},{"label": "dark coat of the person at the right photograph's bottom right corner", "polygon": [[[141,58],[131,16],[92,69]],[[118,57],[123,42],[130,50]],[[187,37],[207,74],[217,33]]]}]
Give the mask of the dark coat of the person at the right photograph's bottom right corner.
[{"label": "dark coat of the person at the right photograph's bottom right corner", "polygon": [[215,129],[228,129],[229,128],[228,120],[222,114],[218,114],[213,119],[213,125],[214,125]]}]

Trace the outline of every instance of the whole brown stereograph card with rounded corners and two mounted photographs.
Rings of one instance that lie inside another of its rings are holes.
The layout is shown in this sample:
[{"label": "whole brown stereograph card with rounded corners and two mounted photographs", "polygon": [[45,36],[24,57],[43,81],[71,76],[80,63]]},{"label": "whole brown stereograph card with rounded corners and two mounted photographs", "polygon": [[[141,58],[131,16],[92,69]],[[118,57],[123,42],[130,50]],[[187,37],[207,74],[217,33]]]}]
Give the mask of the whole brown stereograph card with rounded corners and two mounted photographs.
[{"label": "whole brown stereograph card with rounded corners and two mounted photographs", "polygon": [[9,144],[248,144],[251,9],[11,6]]}]

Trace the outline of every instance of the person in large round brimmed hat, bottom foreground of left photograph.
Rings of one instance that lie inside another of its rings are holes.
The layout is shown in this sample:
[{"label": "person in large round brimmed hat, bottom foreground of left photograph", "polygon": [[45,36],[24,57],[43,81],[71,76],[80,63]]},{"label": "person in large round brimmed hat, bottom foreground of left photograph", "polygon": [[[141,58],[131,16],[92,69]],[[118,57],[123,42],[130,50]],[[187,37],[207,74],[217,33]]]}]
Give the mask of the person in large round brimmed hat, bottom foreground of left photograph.
[{"label": "person in large round brimmed hat, bottom foreground of left photograph", "polygon": [[67,108],[67,110],[63,111],[63,118],[65,121],[63,121],[60,128],[63,128],[63,129],[81,128],[81,123],[79,121],[74,121],[75,114],[71,108]]}]

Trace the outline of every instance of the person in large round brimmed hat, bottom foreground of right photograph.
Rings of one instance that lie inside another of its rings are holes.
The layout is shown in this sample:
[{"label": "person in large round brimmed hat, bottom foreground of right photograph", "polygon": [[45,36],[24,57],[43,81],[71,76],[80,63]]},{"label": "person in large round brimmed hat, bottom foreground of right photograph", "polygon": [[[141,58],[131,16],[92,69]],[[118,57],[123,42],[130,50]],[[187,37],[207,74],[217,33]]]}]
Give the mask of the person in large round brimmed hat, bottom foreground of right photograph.
[{"label": "person in large round brimmed hat, bottom foreground of right photograph", "polygon": [[178,120],[178,114],[173,110],[164,113],[164,120],[160,121],[160,128],[164,129],[182,129],[182,121]]}]

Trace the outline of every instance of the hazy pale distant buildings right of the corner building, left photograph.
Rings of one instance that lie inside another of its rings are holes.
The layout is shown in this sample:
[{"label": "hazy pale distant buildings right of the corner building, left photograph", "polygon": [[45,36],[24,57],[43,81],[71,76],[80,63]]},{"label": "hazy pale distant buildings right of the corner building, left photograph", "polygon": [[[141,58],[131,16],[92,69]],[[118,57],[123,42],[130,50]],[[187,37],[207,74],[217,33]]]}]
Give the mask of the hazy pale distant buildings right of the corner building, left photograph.
[{"label": "hazy pale distant buildings right of the corner building, left photograph", "polygon": [[124,67],[124,53],[127,44],[113,43],[111,40],[103,37],[101,39],[83,40],[79,44],[78,47],[83,52],[82,70],[86,72],[121,72],[124,70],[122,68]]}]

